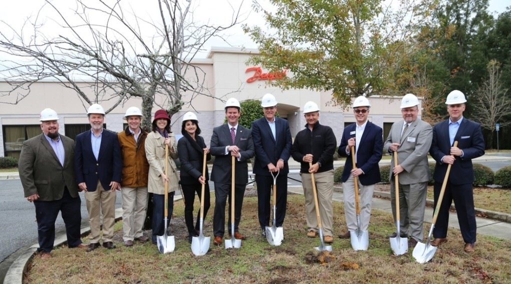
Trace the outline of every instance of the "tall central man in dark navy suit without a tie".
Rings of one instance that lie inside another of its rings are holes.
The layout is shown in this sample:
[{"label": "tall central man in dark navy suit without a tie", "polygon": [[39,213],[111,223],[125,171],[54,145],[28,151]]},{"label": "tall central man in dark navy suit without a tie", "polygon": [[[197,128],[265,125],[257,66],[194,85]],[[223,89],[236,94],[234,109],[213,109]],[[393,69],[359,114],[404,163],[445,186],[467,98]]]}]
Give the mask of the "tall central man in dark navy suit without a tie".
[{"label": "tall central man in dark navy suit without a tie", "polygon": [[286,216],[287,203],[287,161],[291,156],[291,131],[286,119],[277,118],[277,100],[272,94],[261,99],[264,117],[252,121],[252,138],[255,147],[253,173],[257,183],[259,225],[263,237],[266,226],[270,225],[270,197],[273,187],[273,175],[276,178],[277,198],[275,226],[282,227]]}]

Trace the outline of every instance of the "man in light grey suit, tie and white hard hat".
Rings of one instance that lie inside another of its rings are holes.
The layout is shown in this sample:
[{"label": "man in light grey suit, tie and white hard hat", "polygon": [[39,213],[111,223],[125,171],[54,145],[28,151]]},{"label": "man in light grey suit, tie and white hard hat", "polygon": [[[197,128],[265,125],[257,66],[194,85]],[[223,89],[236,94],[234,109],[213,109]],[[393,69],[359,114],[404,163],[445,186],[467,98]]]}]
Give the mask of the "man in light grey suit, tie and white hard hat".
[{"label": "man in light grey suit, tie and white hard hat", "polygon": [[[396,221],[396,183],[394,176],[399,174],[399,212],[402,238],[410,237],[408,248],[413,249],[424,238],[423,223],[426,208],[426,193],[430,178],[428,150],[433,138],[429,123],[422,121],[419,115],[419,99],[406,94],[401,99],[403,120],[394,122],[390,128],[384,149],[392,154],[390,163],[390,204]],[[394,167],[398,152],[398,166]],[[395,238],[396,233],[387,236]]]}]

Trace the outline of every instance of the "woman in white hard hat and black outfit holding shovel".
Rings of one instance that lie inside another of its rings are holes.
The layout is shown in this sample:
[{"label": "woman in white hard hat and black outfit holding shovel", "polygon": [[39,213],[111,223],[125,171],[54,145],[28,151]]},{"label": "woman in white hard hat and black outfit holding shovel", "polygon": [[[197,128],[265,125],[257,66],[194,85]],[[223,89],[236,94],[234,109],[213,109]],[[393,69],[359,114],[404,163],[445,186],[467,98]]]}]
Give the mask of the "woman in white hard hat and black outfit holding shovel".
[{"label": "woman in white hard hat and black outfit holding shovel", "polygon": [[200,128],[197,116],[192,112],[187,112],[183,116],[181,124],[181,134],[183,137],[177,142],[177,151],[179,161],[181,162],[181,187],[184,197],[184,220],[188,227],[188,242],[192,243],[193,237],[199,236],[200,210],[197,214],[197,221],[193,223],[193,203],[195,193],[201,196],[202,184],[204,187],[204,218],[207,210],[210,209],[210,186],[207,180],[210,179],[206,166],[206,175],[202,175],[202,163],[204,153],[206,161],[211,160],[210,149],[204,143],[204,138],[199,136]]}]

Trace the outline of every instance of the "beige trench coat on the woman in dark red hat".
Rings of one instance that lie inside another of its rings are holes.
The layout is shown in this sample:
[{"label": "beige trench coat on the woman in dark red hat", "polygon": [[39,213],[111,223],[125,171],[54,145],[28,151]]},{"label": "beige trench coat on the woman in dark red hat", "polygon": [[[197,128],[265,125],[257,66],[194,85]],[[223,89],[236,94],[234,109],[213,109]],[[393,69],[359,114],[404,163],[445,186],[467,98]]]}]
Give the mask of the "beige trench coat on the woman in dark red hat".
[{"label": "beige trench coat on the woman in dark red hat", "polygon": [[[177,141],[174,133],[169,133],[169,192],[179,189],[179,173],[177,172]],[[147,191],[155,194],[165,194],[165,185],[161,182],[160,175],[165,173],[165,138],[157,132],[151,132],[146,138],[146,157],[149,162],[149,180]],[[172,159],[171,159],[172,158]]]}]

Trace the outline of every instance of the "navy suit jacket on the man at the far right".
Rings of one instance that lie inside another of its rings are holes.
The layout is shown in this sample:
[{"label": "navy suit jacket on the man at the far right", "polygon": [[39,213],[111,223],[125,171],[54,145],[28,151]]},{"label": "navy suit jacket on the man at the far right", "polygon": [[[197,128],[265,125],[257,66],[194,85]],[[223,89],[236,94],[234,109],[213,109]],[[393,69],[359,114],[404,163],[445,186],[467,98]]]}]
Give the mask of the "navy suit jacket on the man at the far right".
[{"label": "navy suit jacket on the man at the far right", "polygon": [[[472,159],[484,154],[484,138],[481,125],[463,117],[454,137],[458,141],[458,148],[463,151],[463,158],[456,156],[456,161],[451,166],[449,181],[453,185],[472,184],[474,182],[474,168]],[[449,119],[438,122],[433,127],[433,142],[429,153],[435,159],[435,173],[433,178],[436,182],[443,182],[447,172],[447,165],[440,162],[444,156],[449,155],[451,142],[449,140]]]}]

